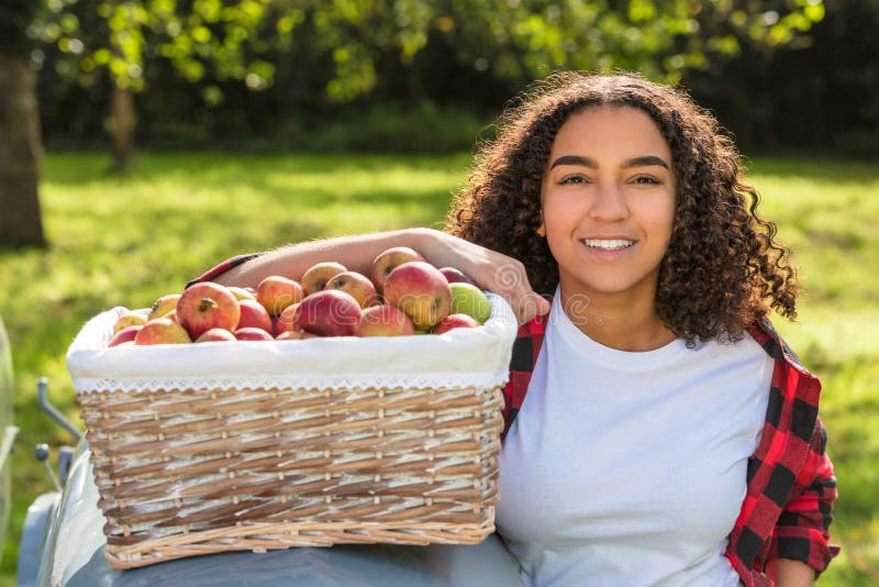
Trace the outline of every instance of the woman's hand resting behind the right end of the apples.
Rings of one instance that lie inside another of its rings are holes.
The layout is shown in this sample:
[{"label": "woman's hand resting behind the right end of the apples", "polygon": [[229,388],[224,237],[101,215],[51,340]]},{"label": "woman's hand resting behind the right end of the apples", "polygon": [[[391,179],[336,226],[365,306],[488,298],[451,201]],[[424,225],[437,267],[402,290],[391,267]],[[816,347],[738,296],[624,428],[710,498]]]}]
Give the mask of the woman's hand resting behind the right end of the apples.
[{"label": "woman's hand resting behind the right end of the apples", "polygon": [[456,267],[481,289],[505,299],[520,324],[549,311],[549,302],[531,288],[519,259],[432,229],[419,229],[416,240],[413,248],[431,264]]}]

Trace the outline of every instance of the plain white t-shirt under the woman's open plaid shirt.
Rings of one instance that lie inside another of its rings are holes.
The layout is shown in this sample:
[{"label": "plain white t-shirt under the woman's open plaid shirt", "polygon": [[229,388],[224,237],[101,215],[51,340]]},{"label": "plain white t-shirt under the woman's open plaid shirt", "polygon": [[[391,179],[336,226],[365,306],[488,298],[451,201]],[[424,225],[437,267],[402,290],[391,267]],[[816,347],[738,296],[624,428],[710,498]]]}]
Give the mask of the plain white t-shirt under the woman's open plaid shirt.
[{"label": "plain white t-shirt under the woman's open plaid shirt", "polygon": [[525,585],[738,585],[723,553],[771,374],[747,335],[603,346],[556,292],[500,456],[497,525]]}]

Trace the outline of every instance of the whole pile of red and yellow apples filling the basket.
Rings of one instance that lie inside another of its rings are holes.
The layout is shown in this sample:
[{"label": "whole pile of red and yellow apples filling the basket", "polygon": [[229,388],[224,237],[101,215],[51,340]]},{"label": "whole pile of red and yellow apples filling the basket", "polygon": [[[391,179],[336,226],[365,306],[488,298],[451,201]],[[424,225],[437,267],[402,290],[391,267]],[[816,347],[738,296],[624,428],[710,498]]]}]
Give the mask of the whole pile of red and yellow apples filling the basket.
[{"label": "whole pile of red and yellow apples filling the basket", "polygon": [[460,270],[397,246],[375,258],[370,277],[325,262],[300,281],[274,275],[256,288],[194,284],[160,297],[148,314],[121,315],[109,346],[442,334],[477,328],[490,312]]}]

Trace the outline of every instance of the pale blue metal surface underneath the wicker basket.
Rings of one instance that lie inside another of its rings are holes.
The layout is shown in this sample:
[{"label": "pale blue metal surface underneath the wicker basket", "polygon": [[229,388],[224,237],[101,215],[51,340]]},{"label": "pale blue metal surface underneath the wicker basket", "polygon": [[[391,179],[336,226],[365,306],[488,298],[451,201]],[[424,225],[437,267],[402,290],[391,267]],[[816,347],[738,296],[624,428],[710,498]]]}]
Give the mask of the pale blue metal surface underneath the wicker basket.
[{"label": "pale blue metal surface underneath the wicker basket", "polygon": [[63,587],[475,586],[521,585],[519,565],[496,536],[478,545],[338,545],[264,554],[196,556],[118,571],[103,556],[89,452],[80,444],[47,534],[36,585]]}]

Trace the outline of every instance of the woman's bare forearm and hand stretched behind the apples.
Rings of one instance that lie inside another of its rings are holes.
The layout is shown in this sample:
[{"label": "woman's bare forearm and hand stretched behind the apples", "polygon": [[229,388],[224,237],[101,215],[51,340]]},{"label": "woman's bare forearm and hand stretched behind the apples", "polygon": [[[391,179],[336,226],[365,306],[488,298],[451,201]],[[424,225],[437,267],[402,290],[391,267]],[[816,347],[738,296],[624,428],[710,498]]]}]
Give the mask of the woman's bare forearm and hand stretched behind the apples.
[{"label": "woman's bare forearm and hand stretched behind the apples", "polygon": [[521,262],[431,229],[338,236],[288,245],[234,267],[213,280],[227,286],[251,287],[256,287],[269,275],[299,280],[309,267],[323,261],[335,261],[349,270],[368,276],[372,259],[392,246],[414,248],[436,267],[460,269],[477,286],[510,302],[521,323],[549,311],[549,302],[531,289]]}]

